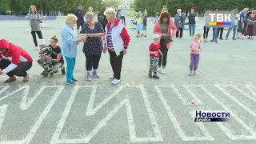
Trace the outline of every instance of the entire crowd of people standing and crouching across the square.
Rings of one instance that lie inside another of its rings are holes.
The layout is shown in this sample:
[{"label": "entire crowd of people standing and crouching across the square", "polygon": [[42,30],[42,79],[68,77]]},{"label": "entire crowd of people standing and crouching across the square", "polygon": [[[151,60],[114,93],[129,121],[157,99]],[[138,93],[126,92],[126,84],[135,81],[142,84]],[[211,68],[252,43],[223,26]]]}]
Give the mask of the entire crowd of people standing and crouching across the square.
[{"label": "entire crowd of people standing and crouching across the square", "polygon": [[[217,9],[218,10],[218,9]],[[249,12],[248,12],[249,11]],[[230,31],[233,30],[233,39],[243,39],[246,35],[248,39],[256,35],[256,10],[244,9],[240,14],[238,10],[234,9],[235,24],[230,27],[226,34],[228,39]],[[61,46],[58,46],[58,38],[56,35],[50,38],[50,45],[46,45],[42,38],[40,29],[40,17],[38,17],[36,7],[30,6],[30,27],[34,45],[40,50],[38,64],[42,66],[43,76],[54,76],[61,70],[62,74],[66,74],[66,84],[76,84],[78,79],[74,78],[74,69],[77,58],[77,47],[79,43],[83,43],[83,53],[86,57],[86,80],[91,81],[91,77],[99,78],[98,66],[102,56],[108,51],[110,55],[110,65],[113,74],[110,76],[112,84],[118,84],[121,79],[122,59],[127,53],[127,48],[130,43],[130,35],[126,30],[126,14],[123,9],[114,10],[112,8],[103,7],[98,14],[98,22],[94,21],[93,8],[89,7],[88,12],[84,14],[82,5],[78,5],[78,10],[74,14],[68,14],[66,21],[61,31]],[[34,16],[31,16],[34,15]],[[144,30],[146,37],[146,10],[142,10],[137,14],[138,37]],[[195,75],[198,69],[200,52],[203,50],[201,37],[202,34],[194,34],[197,14],[194,8],[191,8],[188,14],[190,38],[190,72],[189,75]],[[182,38],[185,26],[186,14],[182,14],[182,10],[178,9],[177,14],[172,20],[166,6],[163,6],[158,20],[154,25],[153,42],[149,46],[150,56],[150,70],[149,78],[158,79],[157,72],[165,73],[167,54],[172,45],[173,38]],[[74,32],[74,26],[77,25],[77,32]],[[81,27],[81,30],[80,30]],[[204,26],[203,39],[207,42],[208,32],[210,28]],[[223,28],[213,28],[213,39],[210,42],[216,42],[222,38]],[[219,34],[220,33],[220,34]],[[38,40],[36,39],[38,34]],[[64,58],[66,60],[66,70],[64,68]],[[15,76],[23,77],[22,82],[28,82],[29,76],[26,73],[32,66],[33,59],[30,54],[23,50],[20,46],[13,43],[0,40],[0,75],[7,74],[9,78],[6,82],[13,82],[16,80]]]}]

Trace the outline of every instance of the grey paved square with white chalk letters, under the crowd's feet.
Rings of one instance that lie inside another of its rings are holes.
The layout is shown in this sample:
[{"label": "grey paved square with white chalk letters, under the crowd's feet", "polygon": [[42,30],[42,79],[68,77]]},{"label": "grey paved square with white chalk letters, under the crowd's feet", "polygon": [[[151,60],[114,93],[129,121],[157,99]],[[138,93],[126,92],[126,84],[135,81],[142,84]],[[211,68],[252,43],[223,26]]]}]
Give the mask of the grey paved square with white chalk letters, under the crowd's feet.
[{"label": "grey paved square with white chalk letters, under the crowd's feet", "polygon": [[[166,74],[154,80],[147,78],[153,25],[148,26],[146,38],[136,38],[135,26],[127,25],[131,41],[123,60],[122,83],[110,84],[108,54],[102,54],[101,78],[86,82],[80,44],[74,70],[79,83],[66,86],[61,74],[40,75],[38,50],[25,30],[27,23],[0,22],[0,38],[22,46],[34,58],[30,82],[23,84],[18,78],[0,85],[1,144],[256,142],[255,40],[203,43],[198,75],[189,77],[191,40],[185,30],[185,38],[174,39],[169,50]],[[197,33],[202,34],[202,23],[198,22]],[[64,18],[46,22],[42,28],[46,41],[54,34],[60,38],[63,25]],[[2,75],[0,82],[6,78]],[[194,122],[194,110],[226,110],[232,118],[230,122]]]}]

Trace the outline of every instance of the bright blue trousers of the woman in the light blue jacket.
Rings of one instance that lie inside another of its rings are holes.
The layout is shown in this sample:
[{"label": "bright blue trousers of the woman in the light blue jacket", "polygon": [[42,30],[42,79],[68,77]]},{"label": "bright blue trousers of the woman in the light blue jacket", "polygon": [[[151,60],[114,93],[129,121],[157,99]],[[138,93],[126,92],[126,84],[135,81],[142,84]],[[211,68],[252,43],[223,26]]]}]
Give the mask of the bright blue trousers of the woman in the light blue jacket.
[{"label": "bright blue trousers of the woman in the light blue jacket", "polygon": [[73,82],[74,79],[74,65],[75,65],[75,58],[66,58],[66,82]]}]

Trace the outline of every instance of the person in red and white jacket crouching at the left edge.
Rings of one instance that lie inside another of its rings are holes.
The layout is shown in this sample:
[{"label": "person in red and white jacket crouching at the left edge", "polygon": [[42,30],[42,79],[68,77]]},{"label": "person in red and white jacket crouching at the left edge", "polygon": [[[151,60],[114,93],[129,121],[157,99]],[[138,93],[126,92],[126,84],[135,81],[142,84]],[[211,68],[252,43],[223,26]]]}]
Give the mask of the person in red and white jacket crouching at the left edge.
[{"label": "person in red and white jacket crouching at the left edge", "polygon": [[4,83],[16,81],[15,75],[23,77],[22,82],[29,81],[26,71],[30,70],[33,59],[20,46],[0,39],[0,59],[0,75],[7,74],[10,77]]}]

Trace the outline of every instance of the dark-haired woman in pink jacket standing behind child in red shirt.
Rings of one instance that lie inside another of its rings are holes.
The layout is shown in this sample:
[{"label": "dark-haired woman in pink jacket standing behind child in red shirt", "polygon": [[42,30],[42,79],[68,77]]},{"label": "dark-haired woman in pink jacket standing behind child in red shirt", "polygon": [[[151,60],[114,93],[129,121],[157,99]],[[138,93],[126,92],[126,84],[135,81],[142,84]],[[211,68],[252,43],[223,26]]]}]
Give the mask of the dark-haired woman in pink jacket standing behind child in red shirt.
[{"label": "dark-haired woman in pink jacket standing behind child in red shirt", "polygon": [[160,34],[162,36],[160,39],[160,50],[163,55],[159,56],[158,62],[158,70],[161,70],[162,68],[162,74],[165,73],[168,50],[172,44],[172,38],[174,38],[176,31],[177,28],[170,18],[170,14],[168,12],[162,13],[158,22],[154,25],[154,34]]}]

